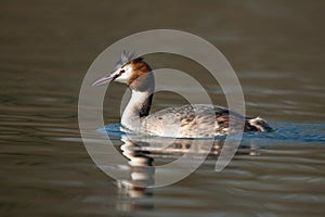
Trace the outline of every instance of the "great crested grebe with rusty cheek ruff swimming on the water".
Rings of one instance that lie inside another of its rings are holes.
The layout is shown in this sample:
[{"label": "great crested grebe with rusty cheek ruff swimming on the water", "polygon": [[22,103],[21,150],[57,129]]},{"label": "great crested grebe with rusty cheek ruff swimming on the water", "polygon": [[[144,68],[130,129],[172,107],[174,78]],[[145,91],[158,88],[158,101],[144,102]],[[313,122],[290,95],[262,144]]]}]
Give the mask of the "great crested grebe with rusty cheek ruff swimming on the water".
[{"label": "great crested grebe with rusty cheek ruff swimming on the water", "polygon": [[126,84],[132,90],[131,99],[121,116],[121,126],[128,131],[160,137],[205,138],[226,136],[243,125],[245,132],[272,130],[260,117],[244,117],[217,105],[188,104],[168,107],[150,115],[155,78],[151,66],[134,53],[123,51],[114,73],[98,79],[93,86],[110,81]]}]

